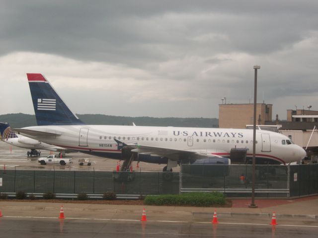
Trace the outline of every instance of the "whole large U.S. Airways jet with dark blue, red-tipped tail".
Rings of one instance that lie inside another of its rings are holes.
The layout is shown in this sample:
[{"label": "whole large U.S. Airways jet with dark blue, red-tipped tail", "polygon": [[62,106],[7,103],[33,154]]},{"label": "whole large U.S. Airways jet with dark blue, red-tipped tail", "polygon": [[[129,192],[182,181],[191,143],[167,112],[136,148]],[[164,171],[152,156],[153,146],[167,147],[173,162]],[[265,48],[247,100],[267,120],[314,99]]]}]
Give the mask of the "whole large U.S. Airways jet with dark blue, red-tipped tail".
[{"label": "whole large U.S. Airways jet with dark blue, red-tipped tail", "polygon": [[[253,130],[229,128],[87,125],[66,106],[40,73],[27,73],[38,126],[14,129],[45,143],[100,157],[166,164],[251,163]],[[246,157],[232,159],[243,151]],[[280,133],[256,131],[256,164],[288,164],[306,152]]]}]

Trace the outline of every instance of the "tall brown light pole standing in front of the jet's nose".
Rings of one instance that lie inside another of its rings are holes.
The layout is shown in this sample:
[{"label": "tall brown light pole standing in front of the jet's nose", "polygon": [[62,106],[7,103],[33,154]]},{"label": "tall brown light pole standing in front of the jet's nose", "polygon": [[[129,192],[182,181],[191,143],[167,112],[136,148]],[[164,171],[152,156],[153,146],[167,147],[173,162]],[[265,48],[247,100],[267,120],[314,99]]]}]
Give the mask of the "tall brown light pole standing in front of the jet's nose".
[{"label": "tall brown light pole standing in front of the jet's nose", "polygon": [[255,145],[256,145],[256,99],[257,99],[257,69],[259,65],[254,65],[254,118],[253,118],[253,158],[252,158],[252,202],[250,208],[257,208],[255,204]]}]

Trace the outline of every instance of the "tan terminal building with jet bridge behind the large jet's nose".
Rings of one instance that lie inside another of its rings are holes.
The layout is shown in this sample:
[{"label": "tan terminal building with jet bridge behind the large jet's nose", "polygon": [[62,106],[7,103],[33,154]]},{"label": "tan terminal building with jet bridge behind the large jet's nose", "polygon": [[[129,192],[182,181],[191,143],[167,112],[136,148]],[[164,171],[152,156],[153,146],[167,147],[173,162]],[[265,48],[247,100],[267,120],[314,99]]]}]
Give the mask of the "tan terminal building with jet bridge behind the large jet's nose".
[{"label": "tan terminal building with jet bridge behind the large jet's nose", "polygon": [[[256,104],[256,124],[276,130],[306,149],[309,157],[318,155],[318,111],[287,110],[287,120],[272,119],[272,104]],[[310,109],[311,106],[308,106]],[[252,128],[254,104],[220,104],[220,128]],[[275,127],[275,129],[273,129]]]}]

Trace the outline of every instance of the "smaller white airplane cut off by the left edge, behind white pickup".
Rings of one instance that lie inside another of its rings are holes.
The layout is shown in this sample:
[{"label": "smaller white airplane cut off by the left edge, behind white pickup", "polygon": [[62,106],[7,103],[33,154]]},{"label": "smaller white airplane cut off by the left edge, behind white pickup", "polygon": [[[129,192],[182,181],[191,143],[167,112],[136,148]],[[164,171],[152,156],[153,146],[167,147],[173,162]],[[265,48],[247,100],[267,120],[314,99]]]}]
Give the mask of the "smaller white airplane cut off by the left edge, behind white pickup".
[{"label": "smaller white airplane cut off by the left edge, behind white pickup", "polygon": [[[49,151],[59,151],[65,153],[66,149],[43,143],[39,140],[31,139],[23,135],[16,134],[8,123],[0,122],[0,139],[10,145],[20,147],[23,149],[30,149],[27,152],[27,156],[35,155],[40,156],[41,151],[37,150],[49,150]],[[63,154],[62,153],[62,154]]]}]

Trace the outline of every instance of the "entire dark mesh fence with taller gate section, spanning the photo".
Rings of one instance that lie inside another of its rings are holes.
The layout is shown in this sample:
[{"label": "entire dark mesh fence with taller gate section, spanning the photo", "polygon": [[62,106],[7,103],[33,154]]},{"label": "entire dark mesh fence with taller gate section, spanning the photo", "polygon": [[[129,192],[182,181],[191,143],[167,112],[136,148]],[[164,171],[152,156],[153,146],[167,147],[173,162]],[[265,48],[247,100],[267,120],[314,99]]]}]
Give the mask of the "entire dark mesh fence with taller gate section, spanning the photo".
[{"label": "entire dark mesh fence with taller gate section, spanning the photo", "polygon": [[[65,170],[0,170],[0,192],[177,194],[220,191],[250,197],[251,165],[182,165],[179,173]],[[318,193],[318,164],[255,166],[255,197],[295,197]]]}]

